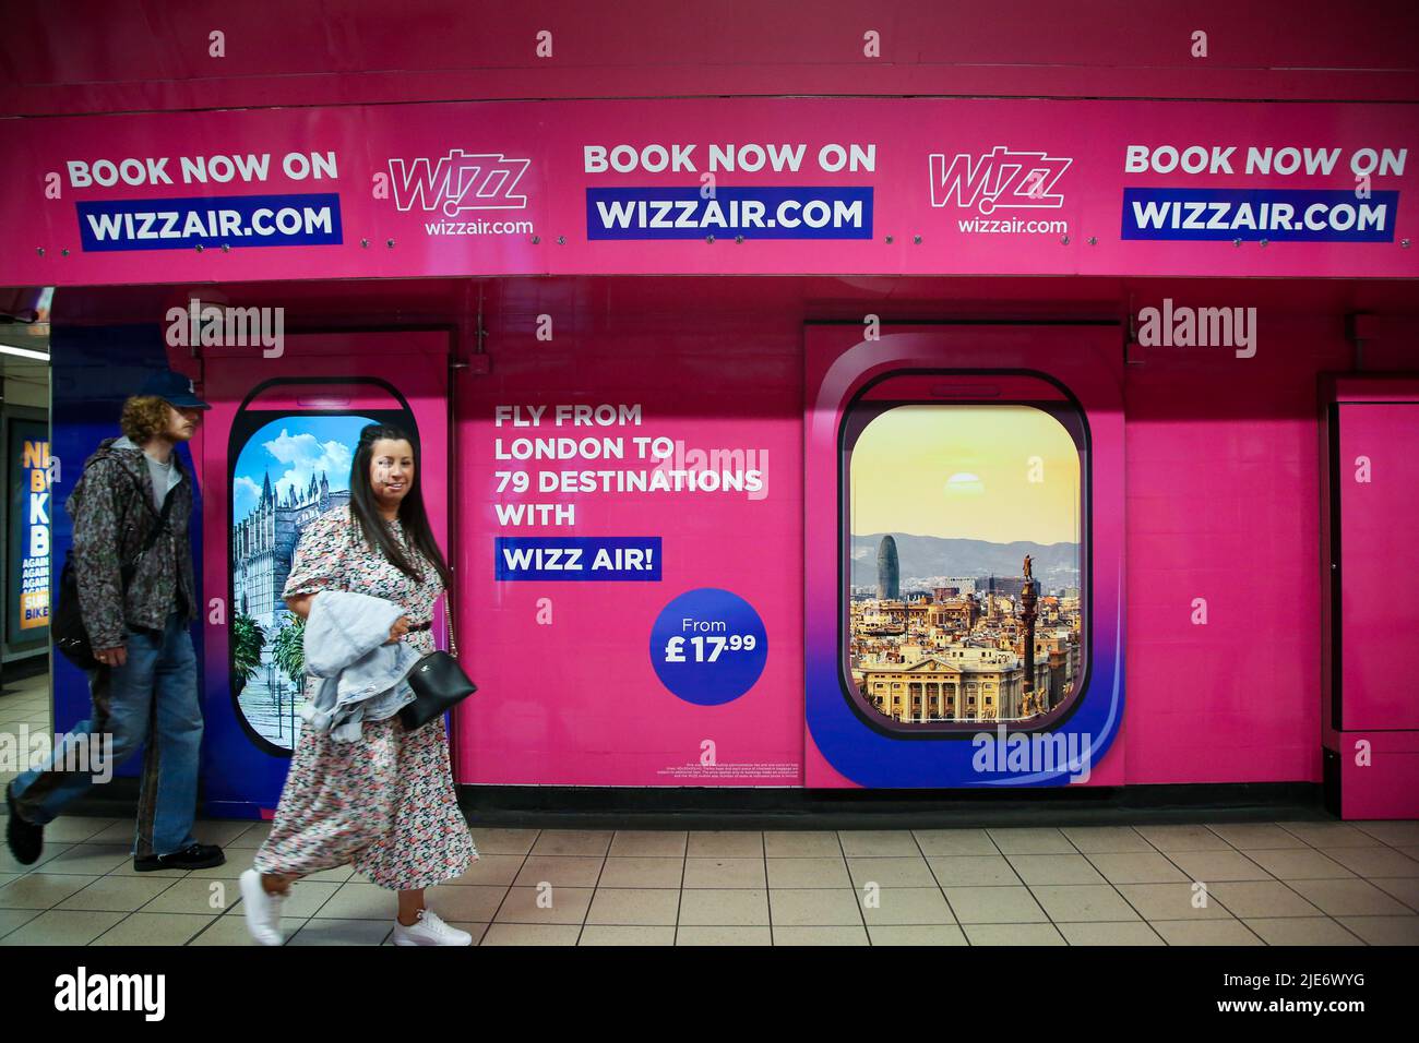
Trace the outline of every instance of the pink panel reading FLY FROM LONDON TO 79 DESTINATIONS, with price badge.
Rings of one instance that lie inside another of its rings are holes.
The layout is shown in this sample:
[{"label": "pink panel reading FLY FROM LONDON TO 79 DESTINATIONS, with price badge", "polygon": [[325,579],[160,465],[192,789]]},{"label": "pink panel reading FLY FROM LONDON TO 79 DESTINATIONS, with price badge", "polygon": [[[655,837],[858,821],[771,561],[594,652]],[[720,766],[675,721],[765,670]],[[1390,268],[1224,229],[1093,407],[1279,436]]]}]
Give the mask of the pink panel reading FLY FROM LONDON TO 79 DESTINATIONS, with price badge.
[{"label": "pink panel reading FLY FROM LONDON TO 79 DESTINATIONS, with price badge", "polygon": [[803,785],[796,359],[548,319],[460,424],[458,780]]}]

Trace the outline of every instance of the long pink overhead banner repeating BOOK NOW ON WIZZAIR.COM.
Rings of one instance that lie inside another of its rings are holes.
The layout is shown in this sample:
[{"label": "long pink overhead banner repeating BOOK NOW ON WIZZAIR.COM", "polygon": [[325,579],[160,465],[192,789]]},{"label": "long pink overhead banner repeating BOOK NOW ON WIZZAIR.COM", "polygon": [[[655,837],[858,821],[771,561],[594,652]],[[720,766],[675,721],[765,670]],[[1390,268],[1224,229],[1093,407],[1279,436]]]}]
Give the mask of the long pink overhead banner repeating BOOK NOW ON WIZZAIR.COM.
[{"label": "long pink overhead banner repeating BOOK NOW ON WIZZAIR.COM", "polygon": [[667,99],[30,123],[0,175],[24,247],[0,284],[1419,274],[1405,106]]}]

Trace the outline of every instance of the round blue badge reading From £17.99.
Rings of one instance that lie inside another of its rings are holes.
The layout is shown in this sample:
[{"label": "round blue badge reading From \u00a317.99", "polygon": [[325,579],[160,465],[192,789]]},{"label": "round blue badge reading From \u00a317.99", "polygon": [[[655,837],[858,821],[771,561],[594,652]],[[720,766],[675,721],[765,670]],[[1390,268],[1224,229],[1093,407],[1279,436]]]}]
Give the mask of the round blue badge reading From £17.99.
[{"label": "round blue badge reading From \u00a317.99", "polygon": [[768,658],[769,636],[759,613],[718,587],[680,595],[650,629],[650,661],[660,683],[701,707],[744,695]]}]

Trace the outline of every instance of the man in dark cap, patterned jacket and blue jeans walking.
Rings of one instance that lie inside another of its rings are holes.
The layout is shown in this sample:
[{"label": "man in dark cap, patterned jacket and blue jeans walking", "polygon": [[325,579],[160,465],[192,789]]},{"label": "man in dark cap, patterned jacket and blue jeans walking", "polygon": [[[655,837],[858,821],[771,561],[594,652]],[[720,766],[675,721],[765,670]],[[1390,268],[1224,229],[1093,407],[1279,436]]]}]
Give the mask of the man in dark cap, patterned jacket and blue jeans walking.
[{"label": "man in dark cap, patterned jacket and blue jeans walking", "polygon": [[[65,501],[74,518],[70,555],[79,613],[99,666],[88,671],[89,719],[75,725],[44,768],[6,788],[6,840],[21,864],[40,857],[44,826],[94,783],[96,769],[72,771],[84,765],[72,756],[65,762],[65,746],[87,741],[92,758],[105,735],[112,736],[109,773],[148,742],[133,868],[226,861],[220,847],[192,834],[201,708],[187,629],[199,599],[187,534],[193,488],[176,446],[192,438],[206,409],[187,377],[155,375],[123,403],[123,437],[99,443]],[[125,565],[133,565],[126,586]]]}]

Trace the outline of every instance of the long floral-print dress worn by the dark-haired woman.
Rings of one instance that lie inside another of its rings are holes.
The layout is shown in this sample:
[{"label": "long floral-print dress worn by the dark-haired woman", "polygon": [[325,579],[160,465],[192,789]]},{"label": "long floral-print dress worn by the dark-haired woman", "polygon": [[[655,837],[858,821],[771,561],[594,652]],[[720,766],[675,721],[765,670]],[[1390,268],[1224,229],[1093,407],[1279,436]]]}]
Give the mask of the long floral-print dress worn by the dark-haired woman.
[{"label": "long floral-print dress worn by the dark-haired woman", "polygon": [[[400,522],[387,525],[402,542]],[[412,626],[424,623],[443,583],[419,551],[407,553],[423,583],[369,548],[349,508],[326,511],[301,532],[281,596],[350,590],[403,606]],[[434,650],[431,629],[403,640],[420,651]],[[409,732],[392,717],[366,721],[358,742],[301,728],[271,836],[254,867],[305,876],[353,861],[380,887],[403,891],[460,877],[477,859],[454,796],[443,722]]]}]

